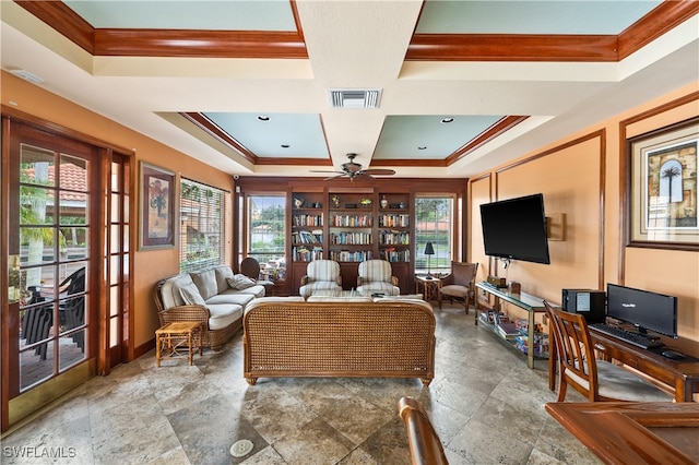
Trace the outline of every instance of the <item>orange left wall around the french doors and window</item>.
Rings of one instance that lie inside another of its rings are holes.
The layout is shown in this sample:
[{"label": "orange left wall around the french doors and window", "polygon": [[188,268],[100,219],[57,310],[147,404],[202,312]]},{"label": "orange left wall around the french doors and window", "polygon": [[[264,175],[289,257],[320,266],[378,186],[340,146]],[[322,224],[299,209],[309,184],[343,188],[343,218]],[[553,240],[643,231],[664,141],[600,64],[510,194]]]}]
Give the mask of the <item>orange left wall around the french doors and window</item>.
[{"label": "orange left wall around the french doors and window", "polygon": [[[79,131],[112,146],[133,150],[135,160],[133,164],[134,176],[138,172],[138,163],[147,162],[175,171],[188,179],[229,192],[233,191],[233,178],[229,175],[4,71],[0,80],[0,90],[2,105]],[[135,194],[138,196],[138,192]],[[226,216],[228,224],[232,223],[230,218],[233,217],[232,203],[228,202],[227,204]],[[131,228],[131,230],[132,234],[138,234],[137,227]],[[227,240],[230,242],[229,237]],[[230,243],[228,243],[228,250],[230,250]],[[227,257],[232,257],[232,253],[228,253]],[[153,286],[162,277],[178,273],[179,254],[177,248],[137,251],[133,259],[134,343],[135,347],[139,347],[153,339],[154,331],[159,325],[153,301]]]}]

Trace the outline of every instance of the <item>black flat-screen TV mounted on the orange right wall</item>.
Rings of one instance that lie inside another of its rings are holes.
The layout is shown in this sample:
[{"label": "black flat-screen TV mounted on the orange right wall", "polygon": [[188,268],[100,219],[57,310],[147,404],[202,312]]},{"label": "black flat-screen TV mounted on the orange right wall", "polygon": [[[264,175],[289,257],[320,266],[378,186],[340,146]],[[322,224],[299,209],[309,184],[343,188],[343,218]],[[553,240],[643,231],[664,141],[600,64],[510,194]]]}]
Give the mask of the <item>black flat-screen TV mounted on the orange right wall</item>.
[{"label": "black flat-screen TV mounted on the orange right wall", "polygon": [[482,204],[481,223],[486,255],[550,263],[543,194]]}]

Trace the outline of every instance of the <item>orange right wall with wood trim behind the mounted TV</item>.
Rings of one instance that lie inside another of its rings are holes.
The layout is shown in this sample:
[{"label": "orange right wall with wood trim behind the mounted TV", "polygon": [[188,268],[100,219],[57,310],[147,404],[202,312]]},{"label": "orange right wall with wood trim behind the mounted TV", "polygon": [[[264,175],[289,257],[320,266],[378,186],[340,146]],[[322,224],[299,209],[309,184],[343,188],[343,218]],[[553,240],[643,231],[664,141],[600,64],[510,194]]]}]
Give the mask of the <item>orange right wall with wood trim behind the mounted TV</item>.
[{"label": "orange right wall with wood trim behind the mounted TV", "polygon": [[[699,341],[699,252],[625,247],[620,237],[623,138],[698,116],[697,93],[695,83],[471,178],[469,260],[481,263],[479,278],[505,276],[553,302],[560,302],[562,288],[604,289],[606,283],[674,295],[679,335]],[[689,95],[690,102],[673,104]],[[516,261],[496,269],[483,251],[478,205],[536,192],[544,194],[547,215],[565,214],[565,240],[549,241],[550,265]],[[506,311],[521,317],[514,308]]]}]

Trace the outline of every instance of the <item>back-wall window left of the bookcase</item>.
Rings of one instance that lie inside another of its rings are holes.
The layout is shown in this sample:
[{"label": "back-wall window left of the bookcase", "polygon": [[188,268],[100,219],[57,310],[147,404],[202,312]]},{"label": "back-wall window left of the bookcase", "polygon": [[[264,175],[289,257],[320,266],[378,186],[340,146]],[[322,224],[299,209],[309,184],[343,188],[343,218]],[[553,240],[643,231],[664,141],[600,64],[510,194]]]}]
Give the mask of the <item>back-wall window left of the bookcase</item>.
[{"label": "back-wall window left of the bookcase", "polygon": [[261,264],[268,264],[271,273],[286,267],[284,257],[286,238],[286,196],[258,194],[248,196],[248,251]]}]

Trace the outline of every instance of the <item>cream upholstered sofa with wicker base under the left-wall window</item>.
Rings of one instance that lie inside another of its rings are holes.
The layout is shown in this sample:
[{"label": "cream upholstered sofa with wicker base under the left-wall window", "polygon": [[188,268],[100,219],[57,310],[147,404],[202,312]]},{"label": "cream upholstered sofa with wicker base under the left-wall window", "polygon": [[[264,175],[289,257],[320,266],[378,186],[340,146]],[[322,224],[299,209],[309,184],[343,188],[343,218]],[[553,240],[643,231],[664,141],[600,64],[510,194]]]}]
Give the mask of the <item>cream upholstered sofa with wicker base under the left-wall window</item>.
[{"label": "cream upholstered sofa with wicker base under the left-wall window", "polygon": [[227,265],[169,276],[154,289],[161,324],[201,321],[202,344],[214,350],[240,330],[244,309],[259,297],[264,297],[264,286]]}]

